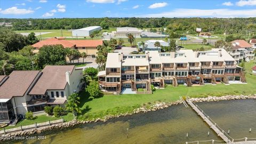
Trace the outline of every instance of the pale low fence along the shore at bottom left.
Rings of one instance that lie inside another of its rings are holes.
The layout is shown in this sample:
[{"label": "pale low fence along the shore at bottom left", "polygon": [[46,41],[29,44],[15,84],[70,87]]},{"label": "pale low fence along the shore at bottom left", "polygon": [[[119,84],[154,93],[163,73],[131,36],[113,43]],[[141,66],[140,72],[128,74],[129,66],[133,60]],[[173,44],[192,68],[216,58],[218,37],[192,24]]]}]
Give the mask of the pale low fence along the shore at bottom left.
[{"label": "pale low fence along the shore at bottom left", "polygon": [[31,125],[25,125],[25,126],[19,126],[19,127],[15,127],[12,129],[3,129],[0,131],[0,134],[6,134],[6,133],[13,133],[13,132],[19,132],[19,131],[24,131],[24,130],[30,130],[30,129],[37,129],[39,127],[44,127],[44,126],[49,126],[49,125],[53,125],[53,124],[59,124],[59,123],[64,123],[64,119],[57,119],[54,121],[48,121],[48,122],[44,122],[44,123],[35,123],[35,124],[31,124]]}]

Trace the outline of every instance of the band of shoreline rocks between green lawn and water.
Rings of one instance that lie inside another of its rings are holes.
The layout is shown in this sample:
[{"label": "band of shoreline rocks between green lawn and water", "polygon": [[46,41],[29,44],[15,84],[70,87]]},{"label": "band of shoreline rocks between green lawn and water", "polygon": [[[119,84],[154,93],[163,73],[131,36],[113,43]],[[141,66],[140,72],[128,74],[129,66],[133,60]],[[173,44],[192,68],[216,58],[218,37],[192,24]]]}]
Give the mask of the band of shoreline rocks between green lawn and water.
[{"label": "band of shoreline rocks between green lawn and water", "polygon": [[[241,100],[241,99],[256,99],[256,94],[253,95],[226,95],[222,97],[207,97],[207,98],[190,98],[190,101],[193,102],[211,102],[211,101],[223,101],[223,100]],[[23,130],[19,132],[12,132],[12,133],[7,133],[0,135],[0,141],[4,141],[6,137],[18,137],[18,136],[25,136],[25,135],[32,135],[32,134],[41,134],[42,132],[45,131],[51,131],[54,129],[65,129],[68,127],[73,127],[78,124],[86,124],[86,123],[97,123],[97,122],[107,122],[108,119],[111,118],[117,118],[121,116],[129,116],[133,114],[139,114],[139,113],[147,113],[149,111],[156,111],[159,109],[164,109],[168,108],[170,106],[174,105],[180,105],[182,104],[181,100],[177,100],[175,102],[161,102],[161,103],[156,103],[155,105],[151,105],[149,107],[140,107],[137,109],[134,109],[131,113],[127,112],[124,114],[119,114],[119,115],[107,115],[103,119],[102,118],[97,118],[97,119],[91,119],[90,121],[78,121],[77,119],[74,119],[73,121],[70,122],[65,122],[65,123],[59,123],[59,124],[54,124],[54,125],[49,125],[49,126],[44,126],[44,127],[38,127],[37,129],[30,129],[30,130]]]}]

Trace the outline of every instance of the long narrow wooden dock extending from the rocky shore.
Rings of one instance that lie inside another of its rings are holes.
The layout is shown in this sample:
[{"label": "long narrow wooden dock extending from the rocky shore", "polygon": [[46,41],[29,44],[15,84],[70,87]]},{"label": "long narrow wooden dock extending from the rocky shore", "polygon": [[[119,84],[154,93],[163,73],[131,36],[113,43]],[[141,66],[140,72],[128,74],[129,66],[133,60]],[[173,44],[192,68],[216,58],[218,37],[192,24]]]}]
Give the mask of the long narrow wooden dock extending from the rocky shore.
[{"label": "long narrow wooden dock extending from the rocky shore", "polygon": [[219,130],[218,127],[216,126],[216,123],[212,123],[209,119],[209,117],[205,116],[203,114],[203,111],[200,111],[197,106],[194,105],[193,102],[191,102],[190,100],[186,100],[188,105],[191,106],[191,108],[193,110],[196,111],[196,113],[202,117],[202,119],[205,121],[206,124],[208,124],[211,129],[218,134],[218,136],[223,140],[225,141],[226,143],[231,143],[231,141],[228,139],[228,137],[226,137],[226,135],[223,133],[223,131]]}]

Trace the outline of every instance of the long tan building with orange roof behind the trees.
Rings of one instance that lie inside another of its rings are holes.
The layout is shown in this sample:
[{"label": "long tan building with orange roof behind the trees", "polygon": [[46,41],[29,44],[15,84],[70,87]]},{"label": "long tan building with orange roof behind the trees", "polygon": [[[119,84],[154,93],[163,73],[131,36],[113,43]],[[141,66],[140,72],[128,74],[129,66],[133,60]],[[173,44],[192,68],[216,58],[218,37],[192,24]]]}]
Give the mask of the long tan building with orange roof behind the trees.
[{"label": "long tan building with orange roof behind the trees", "polygon": [[97,46],[102,45],[103,41],[101,39],[97,40],[66,40],[63,37],[53,37],[49,39],[45,39],[38,43],[33,44],[32,46],[35,48],[33,51],[37,53],[41,47],[44,45],[57,45],[60,44],[64,48],[69,47],[70,49],[78,50],[79,52],[85,52],[87,55],[97,55]]}]

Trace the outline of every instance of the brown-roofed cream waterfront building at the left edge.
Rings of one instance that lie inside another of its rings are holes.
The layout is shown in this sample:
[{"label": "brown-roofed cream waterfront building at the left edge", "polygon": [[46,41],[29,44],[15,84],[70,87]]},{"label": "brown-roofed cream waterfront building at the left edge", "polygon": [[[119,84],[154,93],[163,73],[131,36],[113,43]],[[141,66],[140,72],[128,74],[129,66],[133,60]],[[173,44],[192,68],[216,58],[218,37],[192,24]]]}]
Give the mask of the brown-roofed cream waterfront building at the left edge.
[{"label": "brown-roofed cream waterfront building at the left edge", "polygon": [[82,78],[82,69],[71,65],[14,70],[0,76],[0,123],[15,121],[27,111],[41,113],[47,105],[65,106],[68,95],[82,89]]}]

